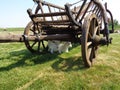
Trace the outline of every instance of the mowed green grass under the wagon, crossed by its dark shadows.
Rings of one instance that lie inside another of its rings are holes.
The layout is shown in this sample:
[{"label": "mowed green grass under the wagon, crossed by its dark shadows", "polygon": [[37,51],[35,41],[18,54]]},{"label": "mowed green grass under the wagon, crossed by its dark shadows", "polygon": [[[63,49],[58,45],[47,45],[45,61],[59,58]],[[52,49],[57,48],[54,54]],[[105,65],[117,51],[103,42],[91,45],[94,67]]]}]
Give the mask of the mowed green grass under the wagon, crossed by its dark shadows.
[{"label": "mowed green grass under the wagon, crossed by its dark shadows", "polygon": [[24,43],[0,43],[0,90],[120,90],[120,34],[84,68],[81,47],[35,55]]}]

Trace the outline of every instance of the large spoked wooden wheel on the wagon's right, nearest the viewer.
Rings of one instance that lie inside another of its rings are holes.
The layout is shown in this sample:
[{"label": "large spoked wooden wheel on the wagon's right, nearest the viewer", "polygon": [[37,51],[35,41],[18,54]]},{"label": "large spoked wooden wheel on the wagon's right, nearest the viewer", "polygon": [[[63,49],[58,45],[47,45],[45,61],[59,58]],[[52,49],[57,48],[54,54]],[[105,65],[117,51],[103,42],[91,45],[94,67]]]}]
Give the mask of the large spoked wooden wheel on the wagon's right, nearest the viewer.
[{"label": "large spoked wooden wheel on the wagon's right, nearest the viewer", "polygon": [[95,36],[100,35],[99,25],[95,14],[88,15],[83,23],[81,50],[82,59],[86,67],[91,67],[98,44],[93,41]]}]

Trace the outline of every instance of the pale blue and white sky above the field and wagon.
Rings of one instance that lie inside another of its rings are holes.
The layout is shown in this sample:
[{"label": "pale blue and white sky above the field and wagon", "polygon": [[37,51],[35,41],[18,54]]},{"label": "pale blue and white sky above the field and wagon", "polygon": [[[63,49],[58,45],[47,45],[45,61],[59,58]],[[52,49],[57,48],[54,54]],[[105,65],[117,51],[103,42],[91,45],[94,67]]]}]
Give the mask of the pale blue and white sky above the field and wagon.
[{"label": "pale blue and white sky above the field and wagon", "polygon": [[[65,3],[74,3],[79,0],[45,0],[59,6]],[[113,13],[114,19],[120,23],[120,0],[100,0],[107,2],[108,8]],[[0,1],[0,28],[25,27],[30,21],[27,9],[34,9],[33,0],[1,0]]]}]

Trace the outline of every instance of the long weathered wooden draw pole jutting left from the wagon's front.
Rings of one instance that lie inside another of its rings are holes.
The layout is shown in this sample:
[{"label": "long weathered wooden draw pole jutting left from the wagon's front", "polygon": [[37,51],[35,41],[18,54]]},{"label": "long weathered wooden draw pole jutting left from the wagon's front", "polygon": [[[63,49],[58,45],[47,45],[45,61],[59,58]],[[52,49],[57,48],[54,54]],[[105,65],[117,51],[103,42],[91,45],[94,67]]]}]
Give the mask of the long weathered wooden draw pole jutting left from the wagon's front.
[{"label": "long weathered wooden draw pole jutting left from the wagon's front", "polygon": [[70,34],[54,34],[54,35],[41,35],[41,36],[24,36],[24,35],[0,35],[0,43],[9,42],[24,42],[25,40],[35,41],[35,40],[71,40],[72,36]]}]

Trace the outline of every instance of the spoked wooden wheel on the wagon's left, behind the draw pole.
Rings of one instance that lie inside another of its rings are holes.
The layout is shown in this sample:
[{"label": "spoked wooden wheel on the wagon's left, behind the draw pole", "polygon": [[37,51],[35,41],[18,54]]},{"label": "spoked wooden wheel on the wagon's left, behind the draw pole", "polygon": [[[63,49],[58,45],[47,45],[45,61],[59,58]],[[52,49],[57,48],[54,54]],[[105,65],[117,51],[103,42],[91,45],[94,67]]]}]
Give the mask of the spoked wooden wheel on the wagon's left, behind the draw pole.
[{"label": "spoked wooden wheel on the wagon's left, behind the draw pole", "polygon": [[[25,28],[24,35],[29,36],[40,36],[42,34],[42,31],[40,30],[39,25],[33,24],[33,22],[29,22],[28,25]],[[43,53],[47,50],[47,41],[44,40],[35,40],[35,41],[29,41],[27,38],[25,38],[24,41],[27,49],[32,53]]]}]

